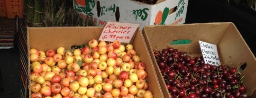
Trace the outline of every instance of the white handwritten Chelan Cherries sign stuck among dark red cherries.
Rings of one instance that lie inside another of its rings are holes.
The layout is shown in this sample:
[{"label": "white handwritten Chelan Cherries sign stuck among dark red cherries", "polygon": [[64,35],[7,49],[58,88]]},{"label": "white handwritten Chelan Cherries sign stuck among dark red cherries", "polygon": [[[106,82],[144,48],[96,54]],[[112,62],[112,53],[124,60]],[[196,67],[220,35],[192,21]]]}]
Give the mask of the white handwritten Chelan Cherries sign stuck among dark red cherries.
[{"label": "white handwritten Chelan Cherries sign stuck among dark red cherries", "polygon": [[217,46],[214,44],[199,41],[202,56],[205,63],[219,66],[219,54]]}]

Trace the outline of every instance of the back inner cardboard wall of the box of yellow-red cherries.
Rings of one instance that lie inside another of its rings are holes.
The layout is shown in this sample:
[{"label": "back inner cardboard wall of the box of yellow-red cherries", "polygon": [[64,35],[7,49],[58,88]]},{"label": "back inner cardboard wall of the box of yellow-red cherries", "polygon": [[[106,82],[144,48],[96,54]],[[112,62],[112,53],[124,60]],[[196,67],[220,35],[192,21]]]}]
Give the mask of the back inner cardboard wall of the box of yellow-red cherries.
[{"label": "back inner cardboard wall of the box of yellow-red cherries", "polygon": [[[46,51],[50,48],[56,50],[59,46],[63,46],[65,49],[70,49],[72,45],[88,44],[85,42],[89,42],[90,39],[97,38],[96,36],[100,36],[101,31],[103,30],[103,27],[48,27],[44,29],[42,28],[43,27],[28,27],[27,45],[29,45],[30,48],[37,47],[38,50]],[[54,36],[54,38],[49,36]],[[83,38],[80,36],[86,37]],[[40,45],[38,45],[38,42],[41,42]]]}]

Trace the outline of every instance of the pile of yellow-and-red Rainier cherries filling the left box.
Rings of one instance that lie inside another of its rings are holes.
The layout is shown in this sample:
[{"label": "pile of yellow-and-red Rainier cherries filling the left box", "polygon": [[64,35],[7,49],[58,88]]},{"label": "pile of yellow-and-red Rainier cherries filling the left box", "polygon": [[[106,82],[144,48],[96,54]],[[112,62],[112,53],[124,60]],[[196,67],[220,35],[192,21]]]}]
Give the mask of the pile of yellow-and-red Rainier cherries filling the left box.
[{"label": "pile of yellow-and-red Rainier cherries filling the left box", "polygon": [[[32,98],[153,98],[146,63],[132,44],[96,39],[85,44],[72,50],[29,51]],[[174,59],[165,63],[170,68]]]}]

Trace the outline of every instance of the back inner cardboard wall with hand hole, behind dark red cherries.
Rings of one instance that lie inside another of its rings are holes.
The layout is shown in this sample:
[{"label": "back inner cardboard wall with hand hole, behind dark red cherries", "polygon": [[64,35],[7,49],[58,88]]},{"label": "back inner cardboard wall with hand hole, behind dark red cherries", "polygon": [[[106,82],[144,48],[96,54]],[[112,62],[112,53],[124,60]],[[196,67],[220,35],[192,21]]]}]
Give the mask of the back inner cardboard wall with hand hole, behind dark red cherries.
[{"label": "back inner cardboard wall with hand hole, behind dark red cherries", "polygon": [[[221,23],[219,23],[221,24]],[[188,45],[172,45],[174,48],[180,48],[181,51],[191,52],[194,54],[200,54],[200,47],[198,46],[198,40],[206,41],[212,44],[218,44],[226,32],[229,24],[213,25],[213,24],[198,24],[198,25],[162,25],[162,26],[145,26],[144,32],[150,40],[151,47],[156,50],[160,50],[170,46],[170,42],[174,40],[188,39],[191,40],[191,44]],[[216,31],[215,31],[216,30]],[[206,32],[207,31],[207,32]],[[161,33],[157,33],[161,32]],[[168,38],[165,38],[169,36]],[[161,40],[159,40],[161,39]],[[194,47],[191,49],[190,47]]]}]

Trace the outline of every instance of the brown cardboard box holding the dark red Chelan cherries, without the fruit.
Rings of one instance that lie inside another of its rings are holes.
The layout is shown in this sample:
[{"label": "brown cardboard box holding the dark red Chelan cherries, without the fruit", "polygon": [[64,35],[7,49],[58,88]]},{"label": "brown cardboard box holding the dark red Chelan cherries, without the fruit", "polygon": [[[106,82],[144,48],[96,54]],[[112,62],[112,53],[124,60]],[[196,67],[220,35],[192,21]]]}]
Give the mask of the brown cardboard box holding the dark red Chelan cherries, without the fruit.
[{"label": "brown cardboard box holding the dark red Chelan cherries, without the fruit", "polygon": [[[156,72],[165,98],[170,98],[170,95],[159,67],[154,60],[155,56],[152,49],[162,50],[169,46],[179,51],[192,53],[192,55],[201,55],[199,40],[217,45],[220,62],[224,64],[232,63],[232,65],[229,65],[231,68],[240,68],[242,64],[246,63],[247,66],[242,72],[242,76],[244,76],[243,83],[246,85],[249,94],[256,95],[256,58],[233,23],[146,26],[142,32],[155,69],[158,70]],[[185,45],[169,44],[171,41],[180,39],[190,39],[191,43]]]}]

